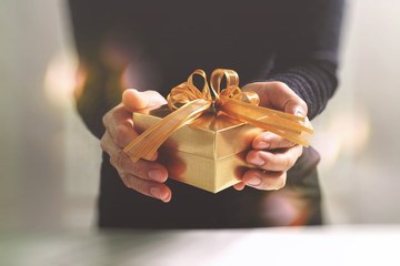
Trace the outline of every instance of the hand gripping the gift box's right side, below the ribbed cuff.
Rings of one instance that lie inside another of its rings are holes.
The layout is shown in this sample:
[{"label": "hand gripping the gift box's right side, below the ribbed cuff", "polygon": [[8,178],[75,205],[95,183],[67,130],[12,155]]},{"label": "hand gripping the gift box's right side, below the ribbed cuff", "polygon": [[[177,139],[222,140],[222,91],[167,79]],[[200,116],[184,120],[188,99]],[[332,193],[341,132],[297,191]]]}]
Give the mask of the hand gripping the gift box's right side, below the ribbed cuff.
[{"label": "hand gripping the gift box's right side, below the ribbed cuff", "polygon": [[[243,86],[242,91],[257,92],[260,96],[260,106],[307,116],[306,102],[283,82],[254,82]],[[257,135],[252,141],[252,149],[246,160],[258,168],[244,172],[242,182],[234,185],[238,191],[243,190],[246,185],[264,191],[283,187],[288,170],[302,154],[301,145],[271,132]]]}]

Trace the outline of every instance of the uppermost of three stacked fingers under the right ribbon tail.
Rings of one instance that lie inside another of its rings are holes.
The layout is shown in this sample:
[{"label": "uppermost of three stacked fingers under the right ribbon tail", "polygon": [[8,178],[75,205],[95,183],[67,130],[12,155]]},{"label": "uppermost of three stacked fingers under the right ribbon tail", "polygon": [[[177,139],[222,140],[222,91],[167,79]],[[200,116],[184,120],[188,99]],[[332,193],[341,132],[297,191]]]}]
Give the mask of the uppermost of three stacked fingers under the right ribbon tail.
[{"label": "uppermost of three stacked fingers under the right ribbon tail", "polygon": [[252,147],[256,150],[276,150],[292,147],[296,143],[271,132],[262,132],[252,141]]}]

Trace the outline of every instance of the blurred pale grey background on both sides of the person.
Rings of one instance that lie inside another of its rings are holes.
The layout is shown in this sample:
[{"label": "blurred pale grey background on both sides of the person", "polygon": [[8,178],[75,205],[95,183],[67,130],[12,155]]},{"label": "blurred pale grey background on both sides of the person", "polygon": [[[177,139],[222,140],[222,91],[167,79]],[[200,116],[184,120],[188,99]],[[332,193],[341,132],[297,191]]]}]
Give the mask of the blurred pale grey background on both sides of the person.
[{"label": "blurred pale grey background on both sides of the person", "polygon": [[[400,1],[348,0],[340,88],[313,121],[329,224],[400,223]],[[62,0],[0,1],[0,231],[92,228],[100,147],[73,103]]]}]

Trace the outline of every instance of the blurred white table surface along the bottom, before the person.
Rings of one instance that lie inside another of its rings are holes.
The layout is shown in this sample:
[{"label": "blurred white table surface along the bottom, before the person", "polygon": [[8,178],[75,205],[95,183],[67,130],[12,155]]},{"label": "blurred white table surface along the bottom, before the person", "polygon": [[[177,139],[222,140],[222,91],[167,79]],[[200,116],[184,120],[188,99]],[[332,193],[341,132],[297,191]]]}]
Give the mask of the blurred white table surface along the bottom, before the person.
[{"label": "blurred white table surface along the bottom, before the person", "polygon": [[0,233],[0,265],[400,265],[400,225]]}]

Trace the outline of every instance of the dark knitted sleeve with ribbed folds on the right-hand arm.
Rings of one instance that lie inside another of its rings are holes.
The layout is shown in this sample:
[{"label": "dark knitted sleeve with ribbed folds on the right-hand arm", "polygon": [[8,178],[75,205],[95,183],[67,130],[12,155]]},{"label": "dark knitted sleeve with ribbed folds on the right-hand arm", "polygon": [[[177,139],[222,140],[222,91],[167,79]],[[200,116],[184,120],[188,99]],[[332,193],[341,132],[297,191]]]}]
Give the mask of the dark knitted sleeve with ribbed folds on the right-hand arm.
[{"label": "dark knitted sleeve with ribbed folds on the right-hand arm", "polygon": [[[289,10],[292,24],[278,38],[274,65],[268,81],[288,84],[308,104],[313,119],[327,105],[338,85],[338,45],[343,0],[299,1]],[[299,12],[300,10],[300,12]]]}]

